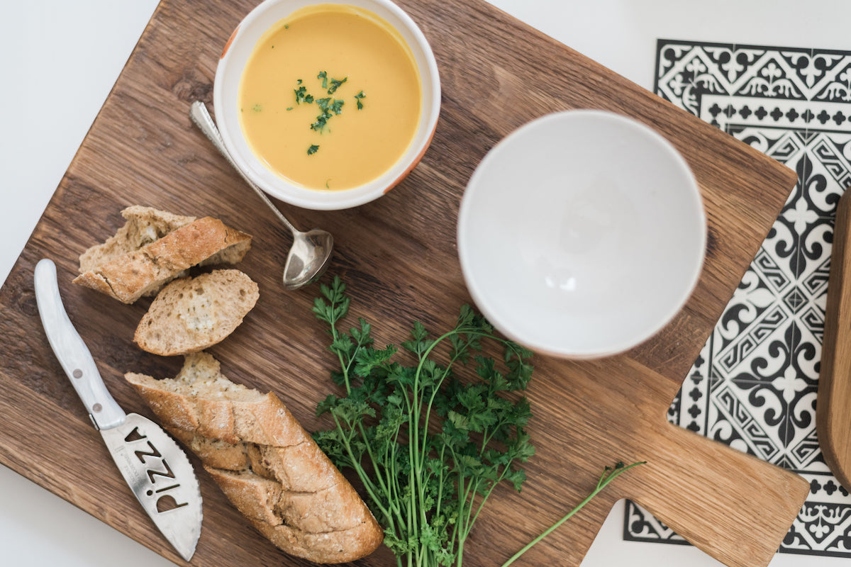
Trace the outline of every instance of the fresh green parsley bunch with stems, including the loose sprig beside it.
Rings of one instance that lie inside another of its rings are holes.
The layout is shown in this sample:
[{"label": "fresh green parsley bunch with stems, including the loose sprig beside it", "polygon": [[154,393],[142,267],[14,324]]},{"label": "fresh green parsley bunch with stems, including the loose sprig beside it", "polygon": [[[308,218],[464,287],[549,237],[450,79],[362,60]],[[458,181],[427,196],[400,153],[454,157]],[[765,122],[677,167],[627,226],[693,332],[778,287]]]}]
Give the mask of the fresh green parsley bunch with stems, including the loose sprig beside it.
[{"label": "fresh green parsley bunch with stems, including the loose sprig beside it", "polygon": [[[313,306],[330,327],[329,350],[340,360],[334,383],[346,389],[345,396],[331,394],[317,405],[317,415],[330,414],[334,428],[314,437],[338,468],[352,468],[363,482],[400,567],[460,567],[464,542],[488,496],[503,480],[519,491],[526,475],[518,465],[534,455],[525,430],[532,413],[525,396],[516,394],[532,377],[531,352],[497,337],[465,305],[454,329],[436,339],[414,324],[402,343],[413,360],[406,366],[393,360],[396,346],[374,348],[367,321],[340,329],[349,310],[345,291],[336,277],[321,286],[323,298]],[[483,339],[502,346],[500,363],[481,354]],[[448,358],[445,366],[433,360],[438,351]],[[452,371],[456,362],[474,369],[477,379],[461,382]],[[505,565],[632,466],[606,468],[584,502]]]}]

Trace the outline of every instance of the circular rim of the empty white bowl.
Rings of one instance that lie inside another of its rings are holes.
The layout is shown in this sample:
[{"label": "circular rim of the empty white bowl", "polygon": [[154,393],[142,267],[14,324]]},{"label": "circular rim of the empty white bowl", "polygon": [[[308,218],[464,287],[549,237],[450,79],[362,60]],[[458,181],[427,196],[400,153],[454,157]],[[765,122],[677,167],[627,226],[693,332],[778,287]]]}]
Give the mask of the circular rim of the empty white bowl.
[{"label": "circular rim of the empty white bowl", "polygon": [[[688,213],[694,217],[695,222],[700,224],[697,241],[700,254],[696,254],[692,264],[688,266],[689,274],[686,279],[688,285],[683,286],[683,289],[680,290],[676,296],[676,301],[669,303],[664,313],[660,311],[660,314],[653,318],[655,321],[653,325],[643,326],[641,332],[633,333],[631,337],[625,337],[619,343],[611,343],[606,348],[575,349],[570,345],[559,345],[553,341],[540,343],[534,340],[530,341],[528,340],[528,337],[523,337],[516,331],[512,324],[512,320],[514,318],[501,314],[500,309],[494,309],[493,303],[488,298],[488,294],[483,292],[483,289],[487,286],[482,285],[481,281],[478,279],[481,278],[481,276],[477,276],[475,274],[475,270],[471,267],[471,255],[473,252],[468,248],[465,226],[469,224],[471,215],[474,214],[473,200],[476,198],[477,193],[481,191],[478,189],[481,187],[481,184],[478,183],[479,179],[483,177],[483,172],[489,167],[490,163],[500,157],[500,153],[505,150],[505,147],[514,145],[517,139],[523,139],[523,137],[525,137],[529,132],[533,132],[537,128],[540,128],[542,124],[548,122],[569,122],[574,119],[588,117],[597,120],[617,122],[622,127],[631,128],[632,130],[641,133],[643,136],[647,136],[648,139],[653,139],[654,142],[665,151],[665,154],[671,158],[671,166],[677,167],[679,173],[682,173],[684,179],[688,182],[688,185],[685,188],[690,197]],[[700,192],[700,185],[697,183],[697,179],[695,179],[694,172],[691,170],[691,167],[688,166],[688,162],[686,162],[682,154],[668,139],[665,138],[665,136],[663,136],[655,128],[652,128],[648,126],[648,124],[640,122],[631,116],[598,109],[572,109],[568,111],[552,112],[535,118],[530,122],[526,122],[488,150],[488,153],[483,157],[482,161],[479,162],[475,171],[472,173],[466,184],[464,195],[461,197],[456,238],[461,272],[464,277],[467,290],[470,292],[473,302],[476,303],[477,307],[481,309],[483,315],[494,325],[494,327],[504,334],[505,337],[533,350],[537,354],[545,354],[564,359],[583,360],[622,354],[633,349],[639,344],[647,341],[649,338],[654,337],[663,328],[665,328],[665,326],[667,326],[674,317],[676,317],[677,313],[679,313],[685,304],[688,303],[688,299],[694,293],[694,289],[700,281],[700,275],[703,271],[703,264],[706,256],[706,232],[707,220],[703,197]]]}]

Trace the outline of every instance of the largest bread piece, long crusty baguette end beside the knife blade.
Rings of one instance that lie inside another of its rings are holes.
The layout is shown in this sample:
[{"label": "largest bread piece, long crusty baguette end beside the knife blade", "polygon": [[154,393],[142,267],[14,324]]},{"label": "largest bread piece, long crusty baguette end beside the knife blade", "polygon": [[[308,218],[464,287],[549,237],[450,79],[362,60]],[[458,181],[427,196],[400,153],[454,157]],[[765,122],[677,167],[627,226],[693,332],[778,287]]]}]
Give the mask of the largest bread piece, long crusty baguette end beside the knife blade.
[{"label": "largest bread piece, long crusty baguette end beside the knife blade", "polygon": [[314,563],[372,553],[383,532],[366,504],[275,394],[232,383],[207,353],[177,377],[125,378],[196,452],[234,507],[274,545]]}]

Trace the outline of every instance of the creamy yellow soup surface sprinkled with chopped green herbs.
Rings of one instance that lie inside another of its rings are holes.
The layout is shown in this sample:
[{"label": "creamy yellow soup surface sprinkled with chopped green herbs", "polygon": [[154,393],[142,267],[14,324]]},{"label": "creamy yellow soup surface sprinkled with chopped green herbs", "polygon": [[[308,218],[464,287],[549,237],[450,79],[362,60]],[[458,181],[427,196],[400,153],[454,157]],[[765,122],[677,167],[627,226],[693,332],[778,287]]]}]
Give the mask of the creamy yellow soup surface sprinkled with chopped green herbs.
[{"label": "creamy yellow soup surface sprinkled with chopped green herbs", "polygon": [[240,82],[240,124],[278,175],[346,190],[403,156],[420,122],[420,92],[413,55],[385,20],[319,4],[260,38]]}]

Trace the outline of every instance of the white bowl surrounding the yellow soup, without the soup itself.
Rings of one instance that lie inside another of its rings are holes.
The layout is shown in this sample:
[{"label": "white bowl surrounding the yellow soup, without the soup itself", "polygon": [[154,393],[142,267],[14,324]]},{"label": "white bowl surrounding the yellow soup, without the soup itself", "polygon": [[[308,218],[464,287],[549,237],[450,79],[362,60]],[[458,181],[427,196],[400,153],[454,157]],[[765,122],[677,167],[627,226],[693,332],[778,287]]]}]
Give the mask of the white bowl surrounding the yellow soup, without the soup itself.
[{"label": "white bowl surrounding the yellow soup, without the soup itself", "polygon": [[[315,4],[346,4],[366,9],[386,20],[408,43],[420,71],[422,112],[420,123],[408,150],[386,173],[368,184],[350,190],[325,191],[306,189],[271,172],[248,146],[239,123],[239,84],[243,68],[260,37],[295,10]],[[341,209],[372,201],[403,178],[419,160],[431,142],[440,111],[440,81],[437,63],[426,37],[408,14],[388,0],[266,0],[240,23],[226,47],[216,69],[213,99],[215,117],[227,150],[237,166],[271,196],[311,209]]]}]

